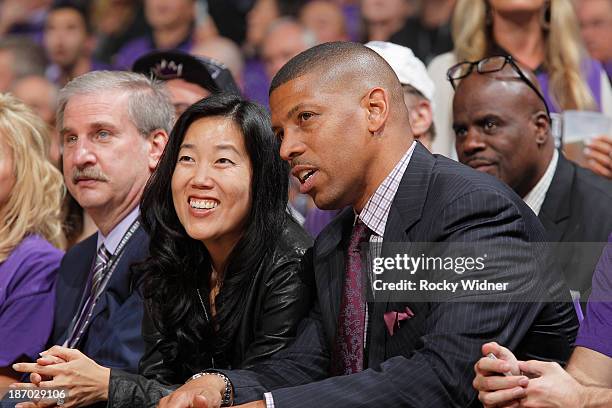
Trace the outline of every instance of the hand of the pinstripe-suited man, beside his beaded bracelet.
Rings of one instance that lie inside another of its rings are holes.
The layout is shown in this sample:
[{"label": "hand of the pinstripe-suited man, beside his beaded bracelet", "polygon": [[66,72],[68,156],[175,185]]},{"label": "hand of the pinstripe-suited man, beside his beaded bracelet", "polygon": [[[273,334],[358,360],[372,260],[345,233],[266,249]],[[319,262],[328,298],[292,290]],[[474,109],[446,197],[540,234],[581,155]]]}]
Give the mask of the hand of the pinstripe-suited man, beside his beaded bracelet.
[{"label": "hand of the pinstripe-suited man, beside his beaded bracelet", "polygon": [[159,408],[219,408],[225,393],[225,382],[216,375],[205,375],[162,398]]}]

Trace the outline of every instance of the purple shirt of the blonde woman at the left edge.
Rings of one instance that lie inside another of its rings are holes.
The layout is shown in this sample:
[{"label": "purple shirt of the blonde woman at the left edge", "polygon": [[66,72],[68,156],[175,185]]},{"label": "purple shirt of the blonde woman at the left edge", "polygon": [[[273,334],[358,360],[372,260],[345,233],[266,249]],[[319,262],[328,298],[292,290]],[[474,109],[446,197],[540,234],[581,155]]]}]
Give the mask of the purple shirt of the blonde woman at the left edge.
[{"label": "purple shirt of the blonde woman at the left edge", "polygon": [[34,361],[49,339],[63,252],[30,235],[0,263],[0,367]]}]

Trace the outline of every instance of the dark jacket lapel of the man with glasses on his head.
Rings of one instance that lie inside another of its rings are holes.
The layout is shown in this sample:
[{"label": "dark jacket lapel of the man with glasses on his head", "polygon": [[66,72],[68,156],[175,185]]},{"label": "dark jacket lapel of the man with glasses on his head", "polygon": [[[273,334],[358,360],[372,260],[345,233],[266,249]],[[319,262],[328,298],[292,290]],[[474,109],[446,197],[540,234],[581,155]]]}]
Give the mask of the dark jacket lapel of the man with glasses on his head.
[{"label": "dark jacket lapel of the man with glasses on his head", "polygon": [[546,239],[549,242],[560,242],[566,232],[575,174],[576,169],[559,153],[555,175],[538,215],[546,229]]}]

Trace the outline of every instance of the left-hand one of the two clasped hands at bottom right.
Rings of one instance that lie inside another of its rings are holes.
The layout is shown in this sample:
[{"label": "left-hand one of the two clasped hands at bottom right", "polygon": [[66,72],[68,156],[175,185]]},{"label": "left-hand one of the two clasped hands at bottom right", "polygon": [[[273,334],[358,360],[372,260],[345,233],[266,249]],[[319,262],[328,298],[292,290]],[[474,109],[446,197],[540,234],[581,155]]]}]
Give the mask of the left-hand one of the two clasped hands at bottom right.
[{"label": "left-hand one of the two clasped hands at bottom right", "polygon": [[[497,343],[482,346],[482,354],[490,353],[497,359],[483,357],[474,365],[476,377],[473,386],[478,391],[478,399],[486,408],[517,408],[525,396],[529,379],[520,375],[519,362],[510,350]],[[512,373],[505,376],[504,373]]]}]

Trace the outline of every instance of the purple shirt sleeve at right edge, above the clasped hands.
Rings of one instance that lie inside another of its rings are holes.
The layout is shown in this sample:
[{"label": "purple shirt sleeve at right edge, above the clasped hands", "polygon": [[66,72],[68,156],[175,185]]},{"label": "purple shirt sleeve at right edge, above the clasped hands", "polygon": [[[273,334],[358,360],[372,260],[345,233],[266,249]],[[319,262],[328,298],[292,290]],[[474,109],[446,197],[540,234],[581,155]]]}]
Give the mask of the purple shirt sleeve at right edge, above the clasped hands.
[{"label": "purple shirt sleeve at right edge, above the clasped hands", "polygon": [[593,289],[576,345],[612,357],[612,234],[593,274]]}]

